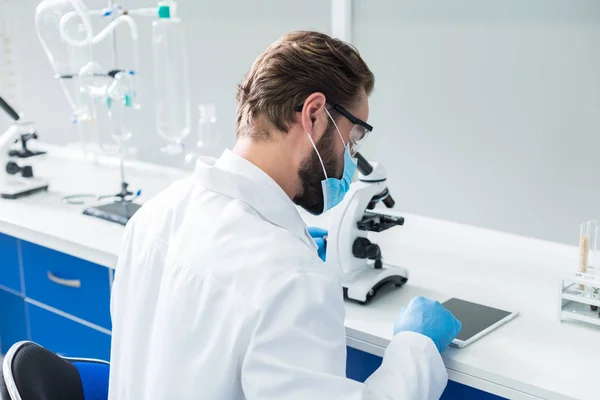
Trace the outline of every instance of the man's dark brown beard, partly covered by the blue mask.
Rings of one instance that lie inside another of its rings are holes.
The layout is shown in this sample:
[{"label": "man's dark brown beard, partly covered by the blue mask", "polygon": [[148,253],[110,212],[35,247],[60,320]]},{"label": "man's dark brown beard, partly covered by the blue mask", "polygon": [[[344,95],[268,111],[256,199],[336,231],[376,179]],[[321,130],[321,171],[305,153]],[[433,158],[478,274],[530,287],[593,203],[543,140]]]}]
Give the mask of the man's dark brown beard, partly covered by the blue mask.
[{"label": "man's dark brown beard, partly covered by the blue mask", "polygon": [[[335,155],[334,140],[339,138],[337,132],[334,134],[334,129],[335,127],[330,121],[327,131],[315,146],[325,165],[327,177],[340,179],[343,171],[340,171],[338,167],[339,160]],[[294,197],[294,203],[313,215],[320,215],[323,213],[324,206],[321,181],[325,179],[325,176],[323,175],[323,167],[319,161],[319,156],[317,156],[314,149],[300,165],[298,176],[303,190],[301,195]]]}]

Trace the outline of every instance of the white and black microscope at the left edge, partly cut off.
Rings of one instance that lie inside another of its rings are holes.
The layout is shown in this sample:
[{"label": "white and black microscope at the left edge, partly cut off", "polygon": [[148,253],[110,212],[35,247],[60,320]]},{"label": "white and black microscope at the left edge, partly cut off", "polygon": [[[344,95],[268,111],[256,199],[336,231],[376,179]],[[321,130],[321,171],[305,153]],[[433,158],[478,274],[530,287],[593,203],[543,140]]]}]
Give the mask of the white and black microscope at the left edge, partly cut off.
[{"label": "white and black microscope at the left edge, partly cut off", "polygon": [[[33,122],[24,121],[2,97],[0,97],[0,108],[14,120],[13,124],[0,135],[0,168],[3,170],[0,170],[0,197],[18,199],[48,190],[48,181],[34,177],[31,165],[19,165],[17,162],[19,159],[45,154],[43,151],[32,151],[27,148],[28,141],[37,139]],[[21,143],[20,148],[11,149],[18,142]]]}]

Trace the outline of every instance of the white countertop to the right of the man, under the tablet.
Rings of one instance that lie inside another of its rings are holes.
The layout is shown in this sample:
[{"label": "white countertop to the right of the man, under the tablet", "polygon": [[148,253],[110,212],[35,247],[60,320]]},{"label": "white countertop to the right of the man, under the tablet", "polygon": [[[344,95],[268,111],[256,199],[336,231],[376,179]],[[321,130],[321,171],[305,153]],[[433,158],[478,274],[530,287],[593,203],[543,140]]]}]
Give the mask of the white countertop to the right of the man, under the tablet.
[{"label": "white countertop to the right of the man, under the tablet", "polygon": [[351,345],[383,355],[398,310],[412,297],[459,297],[520,315],[465,348],[445,351],[451,379],[510,399],[600,398],[600,329],[558,322],[559,275],[577,268],[576,247],[380,211],[406,218],[376,241],[384,262],[407,268],[409,281],[367,306],[347,304]]}]

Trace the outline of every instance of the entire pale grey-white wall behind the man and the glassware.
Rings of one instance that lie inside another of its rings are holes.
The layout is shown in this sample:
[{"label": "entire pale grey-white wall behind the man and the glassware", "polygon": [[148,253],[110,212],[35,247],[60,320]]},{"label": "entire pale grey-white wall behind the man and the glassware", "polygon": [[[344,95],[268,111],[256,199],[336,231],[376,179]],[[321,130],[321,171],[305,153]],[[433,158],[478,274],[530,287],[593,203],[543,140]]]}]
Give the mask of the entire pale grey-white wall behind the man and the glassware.
[{"label": "entire pale grey-white wall behind the man and the glassware", "polygon": [[[20,55],[31,60],[21,71],[24,110],[45,140],[66,143],[74,132],[35,38],[37,2],[18,4]],[[192,136],[197,104],[215,102],[224,145],[234,140],[236,84],[258,53],[290,30],[330,31],[323,0],[183,0],[180,11]],[[600,218],[600,2],[354,0],[354,24],[376,75],[364,154],[387,166],[398,208],[569,243],[580,221]],[[149,68],[150,25],[140,25]],[[144,72],[134,142],[140,158],[173,164],[158,151]]]}]

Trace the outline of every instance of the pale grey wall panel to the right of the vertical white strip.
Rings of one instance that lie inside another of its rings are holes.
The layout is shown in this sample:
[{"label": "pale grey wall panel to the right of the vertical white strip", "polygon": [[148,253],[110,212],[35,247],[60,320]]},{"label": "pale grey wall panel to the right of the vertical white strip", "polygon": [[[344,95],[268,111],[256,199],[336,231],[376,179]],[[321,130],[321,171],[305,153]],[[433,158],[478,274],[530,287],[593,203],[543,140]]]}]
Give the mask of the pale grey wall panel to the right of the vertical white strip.
[{"label": "pale grey wall panel to the right of the vertical white strip", "polygon": [[[600,2],[354,2],[397,207],[577,243],[600,218]],[[407,221],[410,223],[410,221]]]}]

